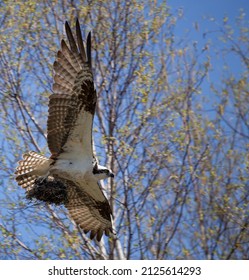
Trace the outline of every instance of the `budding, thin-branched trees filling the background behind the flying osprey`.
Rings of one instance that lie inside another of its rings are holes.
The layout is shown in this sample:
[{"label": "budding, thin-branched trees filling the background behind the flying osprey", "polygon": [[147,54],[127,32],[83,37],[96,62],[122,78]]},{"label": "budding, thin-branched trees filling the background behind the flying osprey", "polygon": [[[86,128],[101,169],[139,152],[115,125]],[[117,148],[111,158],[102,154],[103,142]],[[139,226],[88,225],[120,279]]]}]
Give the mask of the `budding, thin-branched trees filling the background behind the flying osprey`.
[{"label": "budding, thin-branched trees filling the background behind the flying osprey", "polygon": [[[249,258],[243,11],[239,32],[225,17],[201,43],[176,37],[182,11],[163,1],[3,1],[0,14],[1,259]],[[52,63],[76,16],[93,31],[96,153],[116,174],[103,184],[116,235],[100,243],[13,176],[23,152],[48,153]]]}]

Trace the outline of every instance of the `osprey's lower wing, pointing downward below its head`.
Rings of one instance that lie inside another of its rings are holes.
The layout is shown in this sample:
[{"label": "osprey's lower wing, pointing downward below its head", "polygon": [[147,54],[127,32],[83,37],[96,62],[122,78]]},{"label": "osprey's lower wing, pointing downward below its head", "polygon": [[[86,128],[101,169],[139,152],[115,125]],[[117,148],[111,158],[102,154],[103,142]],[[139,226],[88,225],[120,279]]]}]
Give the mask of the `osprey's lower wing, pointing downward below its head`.
[{"label": "osprey's lower wing, pointing downward below its head", "polygon": [[[97,182],[93,184],[96,185],[89,187],[92,189],[99,188],[101,191]],[[112,232],[110,205],[103,193],[100,198],[101,200],[93,198],[87,191],[71,182],[67,192],[68,202],[65,204],[75,223],[85,233],[90,231],[90,238],[96,237],[98,241],[100,241],[103,233],[109,236]]]}]

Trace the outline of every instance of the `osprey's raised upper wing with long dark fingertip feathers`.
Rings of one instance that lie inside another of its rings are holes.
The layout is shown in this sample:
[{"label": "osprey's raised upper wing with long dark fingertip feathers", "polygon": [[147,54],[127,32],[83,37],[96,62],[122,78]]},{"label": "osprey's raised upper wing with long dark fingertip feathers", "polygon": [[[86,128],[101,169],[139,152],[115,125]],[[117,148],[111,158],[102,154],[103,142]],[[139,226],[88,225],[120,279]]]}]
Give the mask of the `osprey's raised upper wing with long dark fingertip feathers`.
[{"label": "osprey's raised upper wing with long dark fingertip feathers", "polygon": [[54,93],[49,100],[48,147],[54,159],[61,152],[92,157],[92,122],[97,97],[91,67],[91,33],[85,51],[78,19],[76,40],[67,22],[65,29],[69,46],[61,41],[53,66]]}]

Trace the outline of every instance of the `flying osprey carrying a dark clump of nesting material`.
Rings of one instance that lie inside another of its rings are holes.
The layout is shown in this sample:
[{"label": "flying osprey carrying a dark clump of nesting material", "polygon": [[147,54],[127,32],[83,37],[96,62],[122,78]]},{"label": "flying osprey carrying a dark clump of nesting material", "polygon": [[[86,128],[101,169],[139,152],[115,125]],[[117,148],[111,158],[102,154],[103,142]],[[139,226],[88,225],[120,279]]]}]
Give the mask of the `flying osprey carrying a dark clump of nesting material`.
[{"label": "flying osprey carrying a dark clump of nesting material", "polygon": [[97,101],[91,64],[91,33],[86,51],[78,19],[76,37],[68,22],[69,45],[62,40],[54,62],[53,94],[49,97],[47,143],[50,158],[36,152],[23,155],[16,181],[27,197],[63,203],[71,218],[90,238],[99,241],[112,232],[111,208],[99,180],[114,177],[98,164],[93,152],[92,126]]}]

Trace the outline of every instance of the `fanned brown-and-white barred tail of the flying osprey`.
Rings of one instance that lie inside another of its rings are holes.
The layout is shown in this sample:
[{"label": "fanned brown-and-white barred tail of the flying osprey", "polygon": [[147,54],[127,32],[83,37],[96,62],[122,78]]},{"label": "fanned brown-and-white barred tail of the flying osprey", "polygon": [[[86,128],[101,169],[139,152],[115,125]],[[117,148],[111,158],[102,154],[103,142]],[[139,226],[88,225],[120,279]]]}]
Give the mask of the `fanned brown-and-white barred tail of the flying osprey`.
[{"label": "fanned brown-and-white barred tail of the flying osprey", "polygon": [[35,180],[48,172],[50,161],[45,156],[32,151],[24,154],[15,172],[18,185],[27,191],[31,190]]}]

